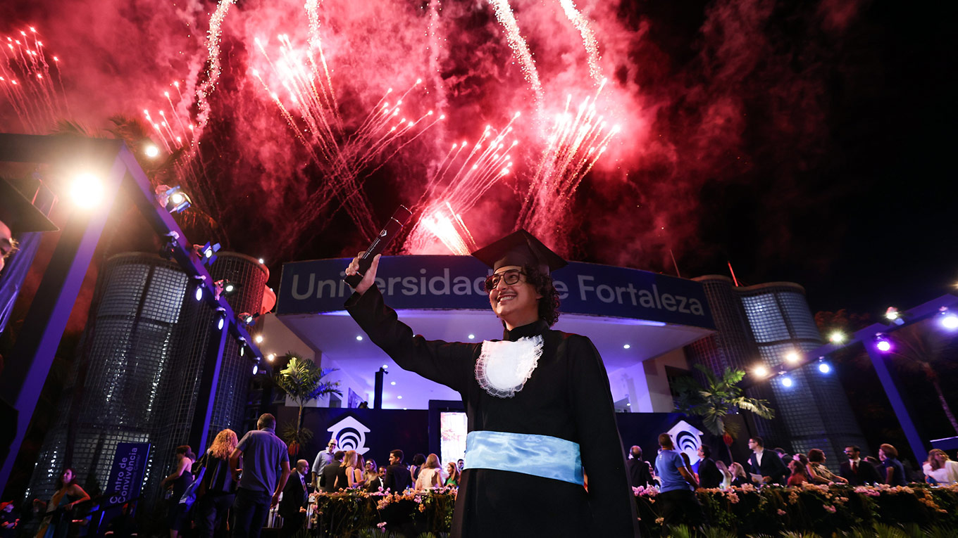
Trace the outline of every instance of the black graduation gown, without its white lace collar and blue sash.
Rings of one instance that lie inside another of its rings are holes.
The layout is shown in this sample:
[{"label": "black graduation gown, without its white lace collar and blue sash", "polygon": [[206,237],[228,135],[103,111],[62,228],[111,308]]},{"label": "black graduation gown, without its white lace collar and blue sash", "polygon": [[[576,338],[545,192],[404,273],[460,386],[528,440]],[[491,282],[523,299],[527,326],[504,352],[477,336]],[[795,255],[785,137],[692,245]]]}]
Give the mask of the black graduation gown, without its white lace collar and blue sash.
[{"label": "black graduation gown, without its white lace collar and blue sash", "polygon": [[588,492],[579,484],[524,473],[463,471],[453,537],[639,535],[608,375],[588,338],[550,330],[543,321],[505,331],[503,338],[511,341],[541,334],[543,345],[522,390],[501,398],[476,381],[482,344],[414,336],[376,286],[354,294],[346,308],[399,367],[462,394],[469,432],[551,436],[580,444]]}]

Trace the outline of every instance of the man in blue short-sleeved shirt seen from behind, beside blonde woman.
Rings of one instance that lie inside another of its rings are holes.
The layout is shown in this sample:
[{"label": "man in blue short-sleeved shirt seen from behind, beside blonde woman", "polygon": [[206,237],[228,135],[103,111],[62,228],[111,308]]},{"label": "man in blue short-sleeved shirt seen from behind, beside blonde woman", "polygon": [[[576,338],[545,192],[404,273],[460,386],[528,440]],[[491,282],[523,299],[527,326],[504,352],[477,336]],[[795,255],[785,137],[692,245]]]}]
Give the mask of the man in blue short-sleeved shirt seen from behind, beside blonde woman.
[{"label": "man in blue short-sleeved shirt seen from behind, beside blonde woman", "polygon": [[[259,538],[269,508],[279,503],[280,492],[289,478],[289,455],[286,443],[276,437],[276,417],[264,413],[256,425],[259,430],[246,432],[230,455],[233,478],[239,481],[237,499],[233,504],[235,537]],[[240,457],[242,469],[238,467]],[[282,473],[279,480],[277,471]]]}]

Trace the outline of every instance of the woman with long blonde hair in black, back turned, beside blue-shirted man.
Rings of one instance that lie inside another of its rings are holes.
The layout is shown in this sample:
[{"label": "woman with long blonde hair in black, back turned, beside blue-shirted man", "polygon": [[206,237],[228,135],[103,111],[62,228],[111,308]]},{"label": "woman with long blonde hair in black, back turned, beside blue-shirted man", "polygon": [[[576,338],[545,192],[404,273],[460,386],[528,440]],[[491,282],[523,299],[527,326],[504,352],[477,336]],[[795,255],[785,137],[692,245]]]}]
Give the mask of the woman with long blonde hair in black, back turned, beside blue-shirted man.
[{"label": "woman with long blonde hair in black, back turned, beside blue-shirted man", "polygon": [[[195,516],[198,536],[212,537],[214,532],[224,528],[226,516],[236,499],[237,483],[233,481],[230,469],[230,454],[238,442],[237,433],[227,428],[217,434],[210,449],[199,460],[206,471],[199,487],[201,497]],[[241,459],[239,464],[242,464]]]}]

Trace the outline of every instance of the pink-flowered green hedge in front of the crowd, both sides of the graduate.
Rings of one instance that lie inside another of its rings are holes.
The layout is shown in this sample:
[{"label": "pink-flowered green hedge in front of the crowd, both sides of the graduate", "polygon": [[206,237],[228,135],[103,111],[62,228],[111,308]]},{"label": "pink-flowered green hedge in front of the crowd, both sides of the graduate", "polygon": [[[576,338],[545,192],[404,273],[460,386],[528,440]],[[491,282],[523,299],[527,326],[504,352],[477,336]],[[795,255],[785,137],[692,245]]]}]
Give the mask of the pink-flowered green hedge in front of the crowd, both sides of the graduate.
[{"label": "pink-flowered green hedge in front of the crowd, both sides of the graduate", "polygon": [[[633,488],[643,536],[661,536],[655,488]],[[712,527],[739,535],[816,532],[884,525],[958,528],[958,486],[848,486],[702,489],[698,500]],[[354,536],[380,528],[405,536],[448,532],[456,488],[390,494],[346,491],[315,496],[314,528],[328,536]]]}]

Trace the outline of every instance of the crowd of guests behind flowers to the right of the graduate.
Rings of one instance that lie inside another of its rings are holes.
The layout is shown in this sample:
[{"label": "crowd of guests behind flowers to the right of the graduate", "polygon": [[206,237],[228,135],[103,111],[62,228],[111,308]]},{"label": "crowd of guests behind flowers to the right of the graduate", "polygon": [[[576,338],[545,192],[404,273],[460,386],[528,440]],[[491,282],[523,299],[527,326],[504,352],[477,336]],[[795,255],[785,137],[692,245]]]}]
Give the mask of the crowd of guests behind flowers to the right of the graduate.
[{"label": "crowd of guests behind flowers to the right of the graduate", "polygon": [[[695,495],[699,488],[785,485],[803,483],[846,483],[850,485],[906,485],[918,482],[909,476],[898,459],[898,450],[887,443],[878,446],[878,459],[863,457],[861,448],[845,447],[847,460],[839,465],[838,474],[825,466],[825,452],[813,448],[808,454],[788,455],[784,449],[764,448],[762,437],[748,439],[752,453],[745,464],[713,460],[708,445],[698,448],[697,472],[684,452],[675,450],[669,434],[658,438],[659,451],[654,463],[642,459],[642,448],[631,447],[627,469],[633,487],[656,487],[656,503],[663,517],[663,525],[679,523],[693,527],[705,523],[704,512]],[[923,464],[924,482],[939,485],[958,483],[958,461],[950,460],[945,451],[933,449]]]}]

